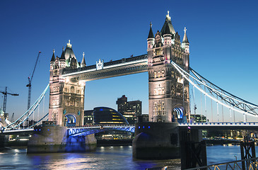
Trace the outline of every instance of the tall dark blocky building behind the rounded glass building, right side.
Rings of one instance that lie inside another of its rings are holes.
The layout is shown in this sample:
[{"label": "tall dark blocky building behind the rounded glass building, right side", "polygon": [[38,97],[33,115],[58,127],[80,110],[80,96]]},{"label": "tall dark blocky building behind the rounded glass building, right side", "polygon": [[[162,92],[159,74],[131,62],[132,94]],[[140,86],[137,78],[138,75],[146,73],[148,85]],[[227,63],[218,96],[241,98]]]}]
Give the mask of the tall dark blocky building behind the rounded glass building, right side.
[{"label": "tall dark blocky building behind the rounded glass building, right side", "polygon": [[124,115],[129,124],[134,125],[141,115],[141,101],[127,101],[127,97],[123,95],[117,98],[117,111]]}]

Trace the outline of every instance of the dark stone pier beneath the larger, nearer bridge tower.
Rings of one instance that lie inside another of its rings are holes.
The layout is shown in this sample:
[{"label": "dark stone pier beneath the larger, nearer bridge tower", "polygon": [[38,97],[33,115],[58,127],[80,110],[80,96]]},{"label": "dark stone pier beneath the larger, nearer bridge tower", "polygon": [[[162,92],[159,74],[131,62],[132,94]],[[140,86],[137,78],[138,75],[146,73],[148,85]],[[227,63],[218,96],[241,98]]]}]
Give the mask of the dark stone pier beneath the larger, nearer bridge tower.
[{"label": "dark stone pier beneath the larger, nearer bridge tower", "polygon": [[177,123],[136,123],[133,157],[176,159],[180,157]]}]

